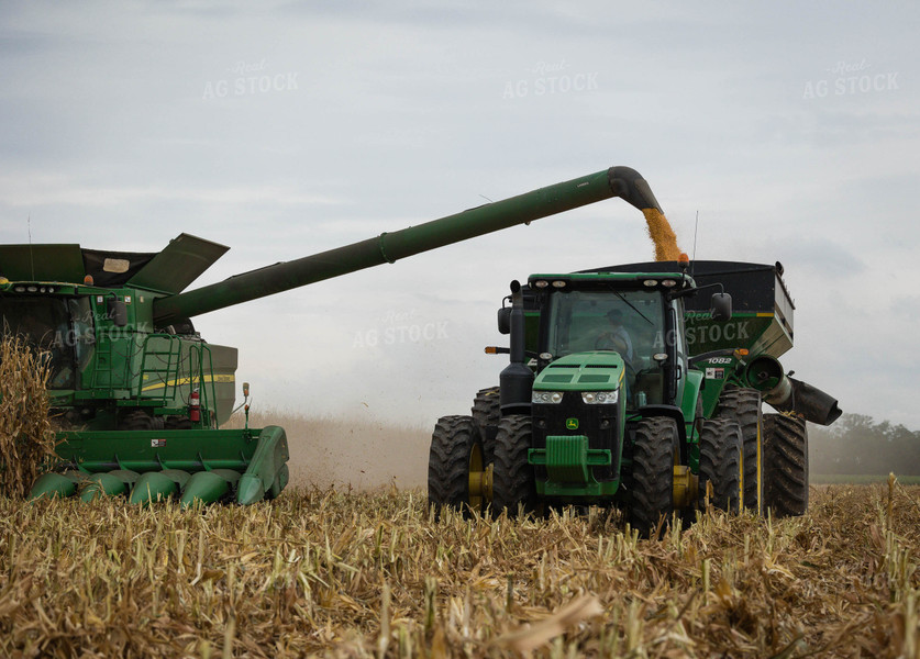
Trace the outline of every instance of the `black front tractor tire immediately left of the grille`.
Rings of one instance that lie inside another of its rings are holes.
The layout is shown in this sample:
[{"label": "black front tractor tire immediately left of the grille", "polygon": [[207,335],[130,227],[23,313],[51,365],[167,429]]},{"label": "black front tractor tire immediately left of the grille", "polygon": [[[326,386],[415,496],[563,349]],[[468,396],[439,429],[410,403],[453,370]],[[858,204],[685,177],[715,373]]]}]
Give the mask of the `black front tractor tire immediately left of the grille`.
[{"label": "black front tractor tire immediately left of the grille", "polygon": [[518,509],[533,512],[536,485],[533,467],[528,463],[532,445],[531,417],[510,414],[498,423],[492,462],[492,514],[506,511],[517,515]]}]

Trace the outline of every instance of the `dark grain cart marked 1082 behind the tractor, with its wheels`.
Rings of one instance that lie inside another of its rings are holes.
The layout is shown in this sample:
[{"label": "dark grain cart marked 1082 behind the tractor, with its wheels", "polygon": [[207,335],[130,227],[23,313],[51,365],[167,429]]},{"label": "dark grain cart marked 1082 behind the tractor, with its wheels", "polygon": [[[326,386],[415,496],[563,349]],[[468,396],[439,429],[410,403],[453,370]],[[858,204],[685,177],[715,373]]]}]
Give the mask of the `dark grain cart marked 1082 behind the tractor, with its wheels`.
[{"label": "dark grain cart marked 1082 behind the tractor, with its wheels", "polygon": [[[608,269],[641,271],[653,266],[679,270],[677,264],[651,263]],[[724,323],[713,321],[700,297],[685,300],[687,349],[706,379],[703,415],[734,417],[742,426],[744,504],[757,507],[763,494],[774,514],[801,515],[808,507],[806,421],[830,425],[841,410],[830,395],[786,376],[778,360],[791,349],[794,338],[795,304],[783,280],[783,265],[695,261],[691,272],[698,286],[723,286],[734,300],[733,316]],[[761,401],[778,413],[763,414]]]}]

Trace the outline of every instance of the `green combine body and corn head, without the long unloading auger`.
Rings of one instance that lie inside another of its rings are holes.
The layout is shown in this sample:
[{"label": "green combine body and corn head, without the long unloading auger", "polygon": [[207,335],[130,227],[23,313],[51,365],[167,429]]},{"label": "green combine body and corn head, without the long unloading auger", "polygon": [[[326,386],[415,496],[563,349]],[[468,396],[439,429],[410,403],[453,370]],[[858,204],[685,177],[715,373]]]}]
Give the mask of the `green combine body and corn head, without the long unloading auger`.
[{"label": "green combine body and corn head, without the long unloading auger", "polygon": [[47,355],[62,428],[58,472],[40,478],[33,498],[252,503],[285,488],[281,428],[217,429],[233,410],[236,349],[206,343],[188,320],[154,317],[157,300],[224,252],[186,234],[159,254],[0,246],[3,323]]}]

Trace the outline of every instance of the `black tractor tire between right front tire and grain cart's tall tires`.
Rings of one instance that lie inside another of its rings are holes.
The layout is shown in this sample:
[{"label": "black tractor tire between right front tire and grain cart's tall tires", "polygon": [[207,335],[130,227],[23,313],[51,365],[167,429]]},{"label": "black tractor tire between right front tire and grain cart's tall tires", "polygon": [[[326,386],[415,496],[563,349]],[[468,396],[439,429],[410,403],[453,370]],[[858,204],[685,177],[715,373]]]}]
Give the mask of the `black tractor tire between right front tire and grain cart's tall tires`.
[{"label": "black tractor tire between right front tire and grain cart's tall tires", "polygon": [[699,495],[706,501],[706,484],[712,483],[710,505],[738,512],[743,482],[741,426],[733,418],[710,418],[699,438]]}]

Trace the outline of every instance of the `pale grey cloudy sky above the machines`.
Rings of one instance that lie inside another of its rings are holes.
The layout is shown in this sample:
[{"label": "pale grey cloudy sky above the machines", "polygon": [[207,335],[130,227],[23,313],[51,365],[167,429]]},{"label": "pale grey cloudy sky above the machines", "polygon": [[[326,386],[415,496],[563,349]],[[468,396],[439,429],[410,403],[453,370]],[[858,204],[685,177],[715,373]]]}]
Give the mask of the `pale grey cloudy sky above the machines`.
[{"label": "pale grey cloudy sky above the machines", "polygon": [[[788,369],[920,428],[915,2],[10,2],[0,242],[232,249],[196,282],[627,165],[786,267]],[[511,279],[652,258],[610,200],[196,320],[256,405],[432,424]]]}]

